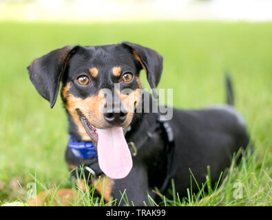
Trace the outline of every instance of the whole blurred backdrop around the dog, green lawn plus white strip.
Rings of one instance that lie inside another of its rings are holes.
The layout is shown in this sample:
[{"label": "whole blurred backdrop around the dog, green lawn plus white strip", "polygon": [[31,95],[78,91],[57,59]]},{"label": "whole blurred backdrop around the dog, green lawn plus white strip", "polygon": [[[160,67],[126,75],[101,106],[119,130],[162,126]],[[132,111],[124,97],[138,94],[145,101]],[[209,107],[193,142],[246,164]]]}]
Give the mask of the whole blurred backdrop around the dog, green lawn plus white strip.
[{"label": "whole blurred backdrop around the dog, green lawn plus white strip", "polygon": [[[232,168],[222,192],[207,204],[272,206],[269,0],[0,0],[0,205],[27,201],[33,181],[41,183],[38,192],[71,187],[61,99],[50,109],[26,67],[65,45],[121,41],[163,55],[159,87],[174,90],[174,107],[225,103],[224,72],[231,74],[235,107],[247,121],[257,159]],[[149,88],[145,74],[140,78]],[[232,197],[236,181],[244,187],[242,199]]]}]

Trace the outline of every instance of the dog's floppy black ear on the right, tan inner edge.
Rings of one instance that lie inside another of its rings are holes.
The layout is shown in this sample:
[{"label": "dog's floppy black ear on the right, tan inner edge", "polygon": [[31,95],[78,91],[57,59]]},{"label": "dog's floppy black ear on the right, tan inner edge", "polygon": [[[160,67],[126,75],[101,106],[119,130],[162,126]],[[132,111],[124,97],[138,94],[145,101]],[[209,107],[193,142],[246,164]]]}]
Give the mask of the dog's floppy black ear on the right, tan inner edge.
[{"label": "dog's floppy black ear on the right, tan inner edge", "polygon": [[155,50],[143,47],[138,44],[123,42],[123,45],[130,48],[136,61],[140,63],[147,74],[147,81],[153,91],[153,95],[157,98],[158,94],[156,87],[160,81],[160,76],[163,72],[163,56],[158,54]]}]

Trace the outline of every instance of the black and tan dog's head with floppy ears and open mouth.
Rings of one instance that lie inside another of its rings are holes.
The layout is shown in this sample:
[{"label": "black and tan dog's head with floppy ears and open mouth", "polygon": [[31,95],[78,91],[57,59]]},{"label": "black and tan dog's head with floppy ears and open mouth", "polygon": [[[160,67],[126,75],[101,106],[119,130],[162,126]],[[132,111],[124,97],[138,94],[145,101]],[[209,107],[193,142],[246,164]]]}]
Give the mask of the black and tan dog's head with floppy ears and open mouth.
[{"label": "black and tan dog's head with floppy ears and open mouth", "polygon": [[[62,81],[61,97],[81,139],[96,144],[98,161],[110,154],[116,154],[117,161],[127,153],[123,131],[132,122],[140,102],[140,69],[145,69],[150,87],[156,89],[163,57],[147,47],[124,42],[66,46],[36,58],[28,72],[34,87],[51,107]],[[111,141],[120,152],[109,150]]]}]

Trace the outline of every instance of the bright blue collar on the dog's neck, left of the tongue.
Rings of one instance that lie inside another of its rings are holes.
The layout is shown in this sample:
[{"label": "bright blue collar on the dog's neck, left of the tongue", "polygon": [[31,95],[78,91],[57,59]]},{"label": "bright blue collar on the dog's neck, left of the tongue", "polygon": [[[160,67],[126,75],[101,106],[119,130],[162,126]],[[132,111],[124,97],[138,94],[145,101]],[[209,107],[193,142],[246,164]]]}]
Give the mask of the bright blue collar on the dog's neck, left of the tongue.
[{"label": "bright blue collar on the dog's neck, left of the tongue", "polygon": [[72,135],[69,135],[68,147],[75,157],[81,159],[97,157],[96,148],[92,142],[77,142]]}]

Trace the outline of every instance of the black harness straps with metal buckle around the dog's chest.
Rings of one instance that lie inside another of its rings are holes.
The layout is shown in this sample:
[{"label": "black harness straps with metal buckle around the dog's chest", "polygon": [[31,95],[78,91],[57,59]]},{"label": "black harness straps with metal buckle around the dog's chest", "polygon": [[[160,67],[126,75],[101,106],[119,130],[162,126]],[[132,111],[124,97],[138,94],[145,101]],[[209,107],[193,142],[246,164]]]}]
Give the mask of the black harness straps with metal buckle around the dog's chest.
[{"label": "black harness straps with metal buckle around the dog's chest", "polygon": [[[156,120],[157,126],[156,129],[160,129],[160,131],[162,131],[162,135],[163,135],[163,140],[164,140],[164,151],[166,154],[166,159],[167,159],[167,173],[165,175],[165,180],[163,181],[163,184],[160,186],[159,190],[160,193],[164,193],[165,190],[167,190],[167,186],[169,185],[169,181],[170,179],[173,177],[174,175],[174,169],[173,169],[173,163],[174,163],[174,151],[175,151],[175,144],[174,144],[174,132],[171,128],[171,126],[169,125],[168,122],[165,122],[163,120],[160,120],[160,117],[158,117],[158,119]],[[147,140],[149,139],[149,137],[151,137],[151,132],[147,132]],[[134,157],[137,156],[138,151],[140,150],[141,146],[138,146],[138,148],[135,146],[134,142],[129,142],[128,143],[129,147],[132,149],[132,155]],[[143,144],[142,144],[143,146]],[[76,155],[75,155],[76,156]],[[72,177],[79,177],[79,173],[81,173],[81,171],[84,172],[86,179],[88,177],[90,177],[90,175],[93,175],[94,177],[99,177],[100,175],[103,174],[103,171],[101,170],[101,168],[99,167],[98,164],[98,159],[97,157],[92,157],[90,159],[86,159],[86,162],[84,162],[84,164],[82,164],[82,166],[77,166],[76,170],[73,170],[71,175]],[[79,173],[77,173],[79,172]],[[89,184],[90,184],[90,180],[91,178],[89,178]]]}]

